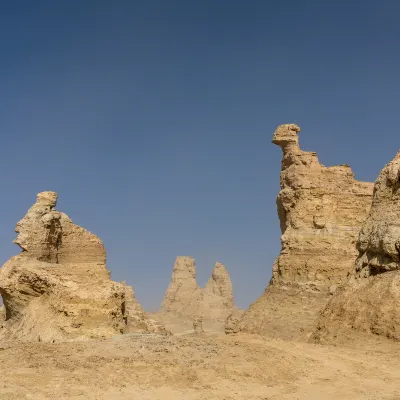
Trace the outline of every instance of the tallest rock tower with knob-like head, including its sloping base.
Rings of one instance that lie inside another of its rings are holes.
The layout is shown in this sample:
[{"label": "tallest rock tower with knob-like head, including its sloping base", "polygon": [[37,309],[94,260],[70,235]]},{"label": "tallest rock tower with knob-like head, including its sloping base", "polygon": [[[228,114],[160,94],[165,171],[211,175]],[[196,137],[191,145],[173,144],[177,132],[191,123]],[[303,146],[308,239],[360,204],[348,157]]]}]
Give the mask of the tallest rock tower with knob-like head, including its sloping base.
[{"label": "tallest rock tower with knob-like head, including its sloping base", "polygon": [[313,323],[357,256],[355,241],[372,198],[372,183],[348,165],[325,167],[300,149],[294,124],[272,142],[282,148],[277,198],[282,250],[265,293],[243,316],[242,331],[294,338]]}]

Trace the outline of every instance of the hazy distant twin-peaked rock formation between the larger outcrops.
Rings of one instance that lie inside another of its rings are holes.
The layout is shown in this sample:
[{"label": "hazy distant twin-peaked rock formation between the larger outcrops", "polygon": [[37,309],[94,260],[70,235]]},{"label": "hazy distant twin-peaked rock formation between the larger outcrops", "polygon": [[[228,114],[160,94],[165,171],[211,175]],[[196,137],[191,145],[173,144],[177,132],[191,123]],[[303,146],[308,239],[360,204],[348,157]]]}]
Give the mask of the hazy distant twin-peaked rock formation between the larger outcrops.
[{"label": "hazy distant twin-peaked rock formation between the larger outcrops", "polygon": [[200,288],[196,282],[195,260],[177,257],[161,312],[225,322],[235,309],[232,282],[223,264],[215,264],[206,286]]}]

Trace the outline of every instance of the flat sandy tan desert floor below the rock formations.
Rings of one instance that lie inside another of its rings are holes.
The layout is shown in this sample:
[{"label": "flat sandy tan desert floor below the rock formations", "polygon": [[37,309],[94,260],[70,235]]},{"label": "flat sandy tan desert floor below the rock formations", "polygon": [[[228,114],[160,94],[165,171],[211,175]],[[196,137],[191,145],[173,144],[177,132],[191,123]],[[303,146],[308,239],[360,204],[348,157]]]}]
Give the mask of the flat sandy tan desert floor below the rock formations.
[{"label": "flat sandy tan desert floor below the rock formations", "polygon": [[0,399],[400,399],[400,344],[257,336],[0,343]]}]

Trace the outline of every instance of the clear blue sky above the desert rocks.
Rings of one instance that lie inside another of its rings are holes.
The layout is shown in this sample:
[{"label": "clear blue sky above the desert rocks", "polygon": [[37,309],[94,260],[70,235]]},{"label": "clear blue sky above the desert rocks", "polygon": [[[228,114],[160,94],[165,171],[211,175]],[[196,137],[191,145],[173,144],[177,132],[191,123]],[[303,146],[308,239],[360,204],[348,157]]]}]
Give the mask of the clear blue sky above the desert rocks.
[{"label": "clear blue sky above the desert rocks", "polygon": [[98,234],[147,310],[174,259],[239,306],[280,250],[278,124],[373,181],[399,141],[397,0],[0,4],[0,255],[37,192]]}]

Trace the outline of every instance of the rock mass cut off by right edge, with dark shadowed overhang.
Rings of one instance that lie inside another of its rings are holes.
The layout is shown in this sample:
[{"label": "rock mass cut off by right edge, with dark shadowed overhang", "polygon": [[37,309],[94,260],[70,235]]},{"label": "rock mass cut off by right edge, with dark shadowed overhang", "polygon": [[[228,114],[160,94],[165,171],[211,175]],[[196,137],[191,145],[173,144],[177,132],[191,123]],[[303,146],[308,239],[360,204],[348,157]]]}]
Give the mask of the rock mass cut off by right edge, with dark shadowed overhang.
[{"label": "rock mass cut off by right edge, with dark shadowed overhang", "polygon": [[400,340],[400,151],[375,182],[348,283],[321,313],[312,339],[374,334]]}]

